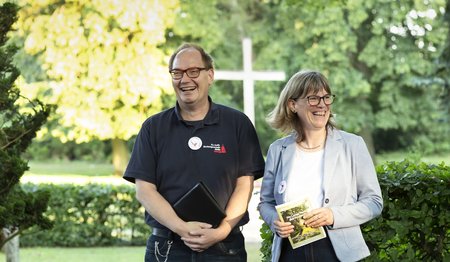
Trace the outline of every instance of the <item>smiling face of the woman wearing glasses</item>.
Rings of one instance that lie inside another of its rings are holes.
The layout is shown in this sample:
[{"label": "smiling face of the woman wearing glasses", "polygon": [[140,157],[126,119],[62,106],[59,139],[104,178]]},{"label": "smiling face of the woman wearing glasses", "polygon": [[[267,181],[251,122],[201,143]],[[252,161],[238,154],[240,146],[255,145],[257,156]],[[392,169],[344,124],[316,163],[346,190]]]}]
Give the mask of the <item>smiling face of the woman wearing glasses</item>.
[{"label": "smiling face of the woman wearing glasses", "polygon": [[305,131],[323,130],[325,129],[328,119],[330,118],[331,105],[326,105],[324,99],[319,100],[318,105],[310,105],[307,97],[317,96],[323,97],[329,93],[324,89],[317,94],[308,93],[303,98],[297,100],[289,100],[289,108],[296,112]]}]

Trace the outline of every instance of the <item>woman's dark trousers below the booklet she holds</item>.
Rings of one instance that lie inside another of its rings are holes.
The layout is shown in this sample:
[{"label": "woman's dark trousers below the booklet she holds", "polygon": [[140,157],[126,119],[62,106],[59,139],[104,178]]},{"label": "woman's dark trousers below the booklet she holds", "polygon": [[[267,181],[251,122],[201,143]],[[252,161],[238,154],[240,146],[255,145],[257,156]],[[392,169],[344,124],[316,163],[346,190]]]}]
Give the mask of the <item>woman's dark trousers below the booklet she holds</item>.
[{"label": "woman's dark trousers below the booklet she holds", "polygon": [[328,237],[312,242],[308,245],[292,249],[287,238],[283,239],[279,262],[292,261],[339,261]]}]

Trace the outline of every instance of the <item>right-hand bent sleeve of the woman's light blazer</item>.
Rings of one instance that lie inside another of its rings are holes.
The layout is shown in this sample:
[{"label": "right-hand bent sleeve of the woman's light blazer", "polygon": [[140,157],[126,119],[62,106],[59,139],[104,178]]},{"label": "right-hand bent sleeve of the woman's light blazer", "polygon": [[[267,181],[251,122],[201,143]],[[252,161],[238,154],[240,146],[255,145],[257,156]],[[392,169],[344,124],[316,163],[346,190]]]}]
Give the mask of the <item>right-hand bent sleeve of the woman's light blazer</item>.
[{"label": "right-hand bent sleeve of the woman's light blazer", "polygon": [[355,203],[330,207],[334,215],[331,229],[363,224],[381,214],[383,199],[377,174],[364,140],[355,136],[352,143],[351,172],[355,179],[357,199]]}]

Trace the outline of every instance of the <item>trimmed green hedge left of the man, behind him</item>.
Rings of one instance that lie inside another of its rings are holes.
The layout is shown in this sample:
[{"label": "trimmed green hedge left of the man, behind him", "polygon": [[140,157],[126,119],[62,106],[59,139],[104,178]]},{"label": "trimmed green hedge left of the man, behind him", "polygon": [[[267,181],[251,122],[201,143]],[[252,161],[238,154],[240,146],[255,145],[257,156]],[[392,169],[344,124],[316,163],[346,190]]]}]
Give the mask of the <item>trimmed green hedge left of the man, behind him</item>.
[{"label": "trimmed green hedge left of the man, behind him", "polygon": [[132,186],[27,183],[23,188],[51,192],[45,215],[54,227],[23,235],[21,246],[145,245],[151,232]]}]

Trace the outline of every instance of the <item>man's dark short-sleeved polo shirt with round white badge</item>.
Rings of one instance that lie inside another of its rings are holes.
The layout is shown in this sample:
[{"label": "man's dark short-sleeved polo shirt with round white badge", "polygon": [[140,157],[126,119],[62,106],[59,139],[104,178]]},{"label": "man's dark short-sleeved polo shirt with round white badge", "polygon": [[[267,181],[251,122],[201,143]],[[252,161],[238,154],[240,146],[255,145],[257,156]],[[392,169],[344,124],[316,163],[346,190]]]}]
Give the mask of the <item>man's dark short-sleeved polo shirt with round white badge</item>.
[{"label": "man's dark short-sleeved polo shirt with round white badge", "polygon": [[[184,121],[176,107],[148,118],[136,138],[124,178],[156,185],[174,204],[198,181],[211,189],[225,209],[239,176],[264,172],[264,159],[256,131],[248,117],[235,109],[214,104],[202,121]],[[162,227],[147,212],[146,223]],[[248,222],[248,214],[239,222]]]}]

